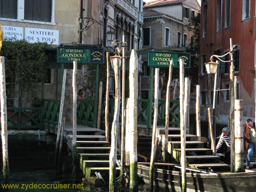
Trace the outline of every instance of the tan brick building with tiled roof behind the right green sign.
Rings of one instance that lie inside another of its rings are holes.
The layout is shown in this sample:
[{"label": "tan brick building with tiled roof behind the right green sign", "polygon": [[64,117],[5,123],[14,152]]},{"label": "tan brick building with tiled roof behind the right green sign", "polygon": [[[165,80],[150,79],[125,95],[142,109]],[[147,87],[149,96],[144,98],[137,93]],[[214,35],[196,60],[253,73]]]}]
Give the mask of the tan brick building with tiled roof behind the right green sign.
[{"label": "tan brick building with tiled roof behind the right green sign", "polygon": [[[143,9],[143,50],[186,52],[194,35],[192,27],[188,25],[189,19],[199,12],[200,5],[196,0],[159,0],[146,3]],[[147,54],[142,55],[142,60],[141,95],[142,98],[148,98],[150,69]],[[160,98],[165,99],[165,90],[161,90],[161,93]]]}]

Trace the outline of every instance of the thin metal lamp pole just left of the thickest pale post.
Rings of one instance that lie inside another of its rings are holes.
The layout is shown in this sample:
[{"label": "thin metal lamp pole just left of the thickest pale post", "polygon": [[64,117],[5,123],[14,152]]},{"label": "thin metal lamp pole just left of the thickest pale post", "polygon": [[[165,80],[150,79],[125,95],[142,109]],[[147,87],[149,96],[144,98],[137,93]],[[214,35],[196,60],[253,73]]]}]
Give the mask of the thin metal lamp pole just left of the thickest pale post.
[{"label": "thin metal lamp pole just left of the thickest pale post", "polygon": [[124,126],[124,109],[125,109],[125,49],[126,49],[126,45],[125,45],[125,41],[124,41],[124,35],[123,35],[123,57],[122,57],[122,63],[123,63],[123,67],[122,67],[122,124],[121,124],[121,129],[122,129],[122,135],[121,135],[121,167],[124,169],[124,165],[125,165],[125,149],[124,149],[124,140],[125,140],[125,126]]}]

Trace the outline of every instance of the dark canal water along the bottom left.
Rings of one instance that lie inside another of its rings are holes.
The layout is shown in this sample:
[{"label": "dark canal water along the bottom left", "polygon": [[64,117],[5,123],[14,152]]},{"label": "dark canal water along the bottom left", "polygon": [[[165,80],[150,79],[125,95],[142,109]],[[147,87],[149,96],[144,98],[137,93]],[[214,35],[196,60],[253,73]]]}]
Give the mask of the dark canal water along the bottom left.
[{"label": "dark canal water along the bottom left", "polygon": [[[0,158],[1,159],[1,158]],[[2,160],[0,163],[0,191],[3,191]],[[9,192],[108,192],[108,184],[104,187],[82,185],[72,182],[71,173],[56,176],[52,163],[45,161],[11,161]],[[14,187],[16,189],[14,189]],[[68,189],[67,189],[68,188]],[[76,188],[76,189],[75,189]],[[148,191],[148,185],[139,183],[139,192]],[[155,190],[154,192],[158,192]]]}]

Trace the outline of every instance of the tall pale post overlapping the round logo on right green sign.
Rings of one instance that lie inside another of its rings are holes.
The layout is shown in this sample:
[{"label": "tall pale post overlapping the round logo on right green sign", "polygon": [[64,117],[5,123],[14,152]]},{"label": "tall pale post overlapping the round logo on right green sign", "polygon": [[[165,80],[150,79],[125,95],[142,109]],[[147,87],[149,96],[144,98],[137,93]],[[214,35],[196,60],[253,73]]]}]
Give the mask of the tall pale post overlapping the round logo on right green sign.
[{"label": "tall pale post overlapping the round logo on right green sign", "polygon": [[184,66],[183,59],[180,59],[180,148],[181,148],[181,174],[182,174],[182,191],[187,191],[186,179],[186,116],[184,116]]}]

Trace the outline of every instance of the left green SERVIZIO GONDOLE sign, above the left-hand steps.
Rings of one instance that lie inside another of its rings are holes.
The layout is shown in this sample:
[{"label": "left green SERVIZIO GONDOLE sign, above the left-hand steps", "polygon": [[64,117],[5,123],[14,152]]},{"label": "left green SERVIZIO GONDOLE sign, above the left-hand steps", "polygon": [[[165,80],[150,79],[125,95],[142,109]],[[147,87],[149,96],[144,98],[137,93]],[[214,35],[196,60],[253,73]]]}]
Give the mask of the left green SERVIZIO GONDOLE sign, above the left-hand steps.
[{"label": "left green SERVIZIO GONDOLE sign, above the left-hand steps", "polygon": [[58,63],[95,63],[104,64],[103,48],[70,47],[57,48]]}]

